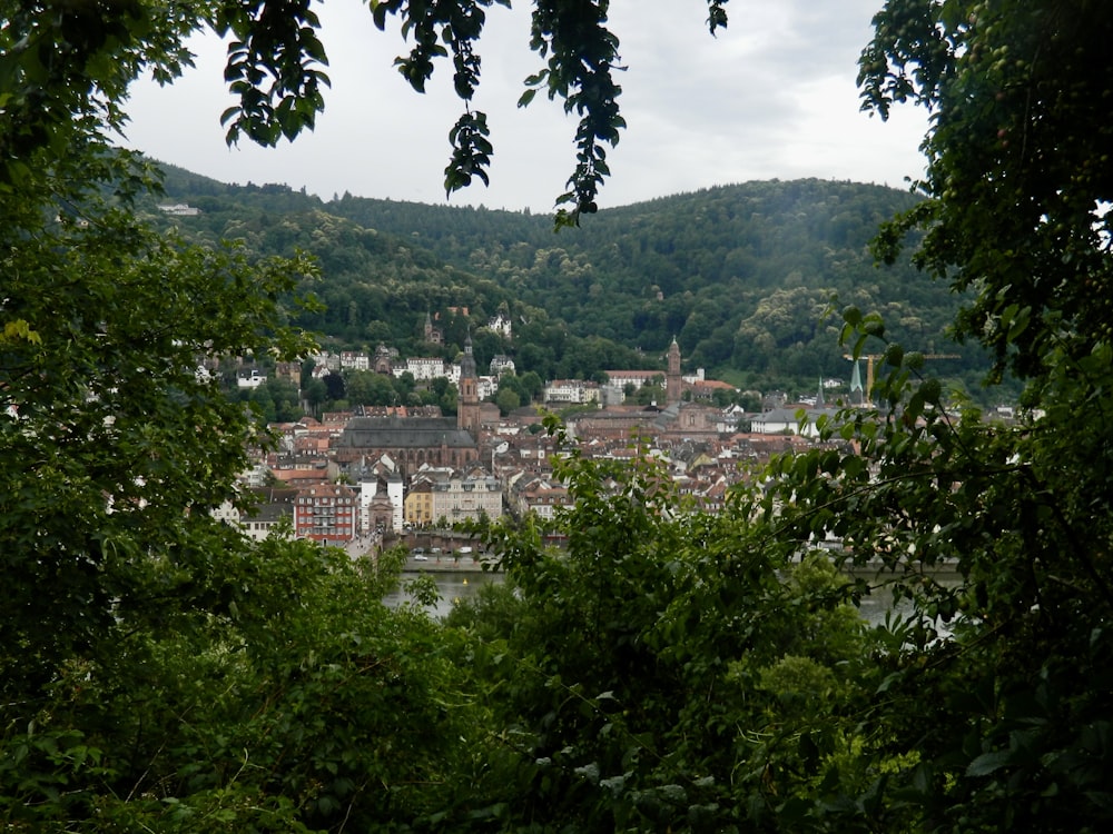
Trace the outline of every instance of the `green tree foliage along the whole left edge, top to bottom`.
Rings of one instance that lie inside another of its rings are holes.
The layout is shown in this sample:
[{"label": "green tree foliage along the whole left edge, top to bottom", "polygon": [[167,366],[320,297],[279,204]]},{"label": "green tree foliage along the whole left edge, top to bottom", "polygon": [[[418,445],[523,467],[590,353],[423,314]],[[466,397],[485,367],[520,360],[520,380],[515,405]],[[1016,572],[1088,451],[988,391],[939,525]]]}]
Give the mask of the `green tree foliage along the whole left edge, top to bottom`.
[{"label": "green tree foliage along the whole left edge, top to bottom", "polygon": [[[3,23],[9,68],[36,60],[8,40],[23,9]],[[158,816],[147,811],[173,816],[186,795],[203,816],[246,795],[221,783],[211,747],[211,770],[176,778],[186,748],[230,721],[228,687],[204,683],[240,668],[219,659],[244,645],[225,628],[259,612],[250,597],[262,554],[210,510],[236,498],[246,445],[266,438],[203,364],[307,354],[313,340],[286,322],[294,288],[315,268],[189,246],[137,220],[132,200],[149,172],[98,143],[90,113],[101,105],[73,103],[82,88],[63,71],[81,53],[116,72],[90,52],[105,39],[126,67],[130,42],[99,11],[69,9],[43,23],[49,34],[61,21],[68,40],[43,50],[30,32],[35,54],[58,60],[46,76],[14,73],[49,83],[38,98],[7,98],[0,128],[0,824],[62,830],[97,817],[131,830]],[[55,107],[73,108],[73,122],[53,123]],[[184,741],[179,718],[193,704],[211,712]],[[146,810],[112,798],[137,788],[154,797]],[[296,823],[277,793],[256,798],[257,818]]]}]

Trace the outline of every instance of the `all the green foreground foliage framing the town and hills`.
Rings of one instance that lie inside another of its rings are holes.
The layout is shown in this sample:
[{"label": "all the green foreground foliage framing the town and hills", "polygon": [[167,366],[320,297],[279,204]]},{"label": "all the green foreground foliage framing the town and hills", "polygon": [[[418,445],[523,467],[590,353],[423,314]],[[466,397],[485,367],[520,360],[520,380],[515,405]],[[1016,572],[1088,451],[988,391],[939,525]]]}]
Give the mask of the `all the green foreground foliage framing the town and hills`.
[{"label": "all the green foreground foliage framing the town and hills", "polygon": [[[283,31],[264,19],[277,8],[223,13],[254,34]],[[607,69],[605,3],[545,10],[542,39],[581,11],[585,69]],[[304,351],[288,305],[313,267],[154,231],[132,210],[151,171],[102,133],[134,72],[171,77],[180,38],[216,11],[47,3],[0,24],[7,828],[1109,828],[1111,12],[890,0],[864,56],[883,115],[909,98],[936,112],[926,199],[881,250],[922,225],[916,262],[971,294],[958,334],[1026,385],[1018,421],[926,378],[889,310],[847,307],[838,349],[878,351],[876,411],[825,420],[817,447],[716,515],[644,448],[587,460],[550,420],[574,506],[551,527],[490,527],[508,583],[440,625],[382,604],[398,554],[249,544],[206,512],[264,438],[198,360]],[[307,7],[292,14],[314,38]],[[436,52],[421,31],[417,58]],[[240,43],[249,86],[292,71],[253,129],[293,130],[313,107],[302,49]],[[551,67],[569,96],[595,78],[565,70]],[[287,93],[309,111],[279,112]],[[575,255],[546,252],[538,275],[582,279]],[[791,310],[819,302],[799,287],[765,308],[789,338]],[[899,605],[867,627],[855,606],[879,585]]]}]

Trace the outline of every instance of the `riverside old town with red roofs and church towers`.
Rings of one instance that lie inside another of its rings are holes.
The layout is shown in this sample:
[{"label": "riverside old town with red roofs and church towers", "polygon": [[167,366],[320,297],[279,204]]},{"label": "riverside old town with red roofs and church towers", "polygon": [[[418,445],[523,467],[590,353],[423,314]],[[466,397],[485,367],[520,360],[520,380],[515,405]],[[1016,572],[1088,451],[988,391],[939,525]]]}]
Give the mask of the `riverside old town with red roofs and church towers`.
[{"label": "riverside old town with red roofs and church towers", "polygon": [[[455,417],[443,416],[436,406],[355,406],[325,411],[321,419],[272,424],[277,448],[258,451],[243,478],[255,506],[239,510],[228,502],[217,510],[255,539],[285,530],[352,555],[391,546],[402,535],[408,534],[412,544],[415,532],[446,530],[508,513],[551,520],[569,495],[553,477],[556,440],[541,428],[543,410],[569,409],[568,435],[584,456],[653,456],[693,508],[717,512],[728,489],[771,455],[816,444],[818,418],[831,419],[840,407],[825,399],[825,388],[841,386],[840,380],[820,380],[816,396],[806,401],[768,395],[759,411],[717,405],[716,391],[733,389],[705,378],[702,370],[683,374],[676,339],[664,370],[607,370],[603,384],[551,380],[540,406],[506,415],[490,400],[500,375],[513,373],[513,360],[496,356],[490,375],[480,376],[470,337],[455,364],[436,357],[400,360],[385,346],[372,356],[345,351],[312,359],[318,375],[345,369],[408,373],[424,383],[447,378],[459,391]],[[299,369],[286,364],[276,373],[295,383]],[[240,387],[265,381],[257,369],[238,377]],[[631,395],[650,386],[660,391],[661,401],[631,401]],[[859,404],[863,388],[855,364],[850,395]]]}]

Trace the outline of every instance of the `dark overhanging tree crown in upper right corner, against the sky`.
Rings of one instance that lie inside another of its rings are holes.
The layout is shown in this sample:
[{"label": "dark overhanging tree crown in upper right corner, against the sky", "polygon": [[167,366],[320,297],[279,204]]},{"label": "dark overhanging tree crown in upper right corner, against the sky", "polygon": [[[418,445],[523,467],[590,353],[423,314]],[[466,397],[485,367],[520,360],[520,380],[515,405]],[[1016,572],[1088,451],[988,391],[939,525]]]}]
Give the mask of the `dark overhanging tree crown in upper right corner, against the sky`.
[{"label": "dark overhanging tree crown in upper right corner, against the sky", "polygon": [[1090,353],[1110,320],[1111,127],[1094,102],[1110,95],[1099,44],[1113,17],[1073,2],[890,2],[877,24],[866,105],[885,115],[912,99],[937,112],[922,183],[934,199],[889,235],[922,226],[917,261],[978,288],[957,334],[992,347],[1002,368],[1038,376],[1056,346]]}]

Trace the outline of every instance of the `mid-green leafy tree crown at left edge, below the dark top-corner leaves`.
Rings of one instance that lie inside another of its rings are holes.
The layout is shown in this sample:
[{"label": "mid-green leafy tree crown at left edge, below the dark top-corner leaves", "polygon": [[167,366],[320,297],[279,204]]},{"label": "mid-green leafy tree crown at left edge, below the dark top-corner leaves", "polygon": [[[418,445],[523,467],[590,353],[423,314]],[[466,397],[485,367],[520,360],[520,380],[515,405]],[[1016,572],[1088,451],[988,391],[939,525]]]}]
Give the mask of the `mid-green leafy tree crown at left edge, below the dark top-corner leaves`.
[{"label": "mid-green leafy tree crown at left edge, below the dark top-corner leaves", "polygon": [[[292,358],[311,345],[276,304],[309,265],[249,267],[234,249],[181,247],[83,189],[63,193],[87,225],[4,201],[14,336],[0,361],[0,457],[11,473],[0,493],[11,545],[0,629],[3,678],[16,686],[126,627],[132,609],[154,615],[179,583],[216,580],[188,562],[214,536],[206,510],[233,494],[254,427],[198,365],[253,350]],[[151,569],[171,554],[184,573],[156,592]]]}]

